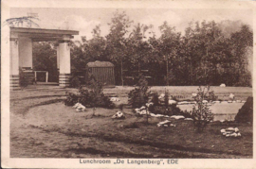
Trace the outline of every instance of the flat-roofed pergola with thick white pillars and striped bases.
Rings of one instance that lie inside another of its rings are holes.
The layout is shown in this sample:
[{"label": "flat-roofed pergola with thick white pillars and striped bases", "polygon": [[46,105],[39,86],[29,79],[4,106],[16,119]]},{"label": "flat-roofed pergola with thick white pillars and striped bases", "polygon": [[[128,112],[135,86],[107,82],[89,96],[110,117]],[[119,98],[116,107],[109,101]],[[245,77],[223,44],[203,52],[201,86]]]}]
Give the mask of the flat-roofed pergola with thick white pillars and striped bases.
[{"label": "flat-roofed pergola with thick white pillars and striped bases", "polygon": [[10,89],[19,89],[19,68],[32,70],[32,42],[56,41],[59,86],[68,87],[70,78],[70,40],[79,31],[43,28],[9,28]]}]

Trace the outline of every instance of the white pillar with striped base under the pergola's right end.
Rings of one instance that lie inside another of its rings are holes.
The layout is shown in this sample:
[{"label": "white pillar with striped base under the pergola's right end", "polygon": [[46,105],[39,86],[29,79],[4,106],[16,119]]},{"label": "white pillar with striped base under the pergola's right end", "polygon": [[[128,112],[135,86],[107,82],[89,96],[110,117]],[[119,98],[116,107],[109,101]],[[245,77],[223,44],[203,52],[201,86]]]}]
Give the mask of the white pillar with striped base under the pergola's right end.
[{"label": "white pillar with striped base under the pergola's right end", "polygon": [[[59,86],[68,87],[70,84],[71,61],[70,61],[70,37],[64,36],[59,42],[60,75]],[[58,56],[58,55],[57,55]]]}]

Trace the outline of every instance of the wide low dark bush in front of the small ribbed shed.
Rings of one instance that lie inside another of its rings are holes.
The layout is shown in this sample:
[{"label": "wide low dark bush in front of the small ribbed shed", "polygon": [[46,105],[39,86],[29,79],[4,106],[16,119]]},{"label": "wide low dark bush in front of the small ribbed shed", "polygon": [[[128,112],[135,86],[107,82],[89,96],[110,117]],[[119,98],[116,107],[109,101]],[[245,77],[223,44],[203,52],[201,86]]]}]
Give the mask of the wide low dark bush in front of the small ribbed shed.
[{"label": "wide low dark bush in front of the small ribbed shed", "polygon": [[73,106],[78,102],[87,108],[114,108],[113,102],[102,92],[101,83],[94,78],[89,81],[87,86],[80,86],[79,93],[67,93],[67,97],[64,100],[66,106]]}]

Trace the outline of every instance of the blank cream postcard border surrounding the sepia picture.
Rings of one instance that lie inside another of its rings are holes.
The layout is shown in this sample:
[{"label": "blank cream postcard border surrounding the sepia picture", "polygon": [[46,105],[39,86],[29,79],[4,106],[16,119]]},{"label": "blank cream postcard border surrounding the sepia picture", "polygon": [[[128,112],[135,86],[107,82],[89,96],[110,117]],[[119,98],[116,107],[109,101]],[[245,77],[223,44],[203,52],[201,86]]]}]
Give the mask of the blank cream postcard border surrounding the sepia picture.
[{"label": "blank cream postcard border surrounding the sepia picture", "polygon": [[[253,1],[125,1],[125,0],[2,0],[1,21],[9,18],[9,8],[253,8],[255,15],[255,4]],[[255,32],[256,19],[253,18],[253,31]],[[8,28],[2,29],[1,35],[1,160],[3,168],[254,168],[254,159],[247,160],[198,160],[180,159],[178,165],[106,165],[106,164],[81,164],[79,159],[9,159],[9,44],[5,38],[9,38]],[[256,33],[253,34],[254,45],[256,44]],[[254,55],[256,49],[253,49]],[[254,58],[254,56],[253,56]],[[253,59],[253,65],[255,59]],[[255,69],[253,69],[253,75]],[[254,79],[254,78],[253,78]],[[253,96],[255,98],[255,80],[253,80]],[[255,105],[255,99],[254,99]],[[255,131],[254,115],[254,131]],[[253,134],[253,152],[255,152],[256,134]],[[112,160],[112,163],[115,160]]]}]

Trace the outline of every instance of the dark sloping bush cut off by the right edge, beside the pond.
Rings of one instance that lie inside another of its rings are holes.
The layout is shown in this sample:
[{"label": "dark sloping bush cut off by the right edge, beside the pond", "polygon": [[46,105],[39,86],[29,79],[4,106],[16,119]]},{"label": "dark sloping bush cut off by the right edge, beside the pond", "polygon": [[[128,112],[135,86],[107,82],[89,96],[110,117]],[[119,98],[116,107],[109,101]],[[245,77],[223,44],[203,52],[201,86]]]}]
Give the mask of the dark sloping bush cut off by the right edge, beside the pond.
[{"label": "dark sloping bush cut off by the right edge, beside the pond", "polygon": [[247,98],[247,102],[236,114],[235,121],[241,123],[253,123],[253,97]]}]

